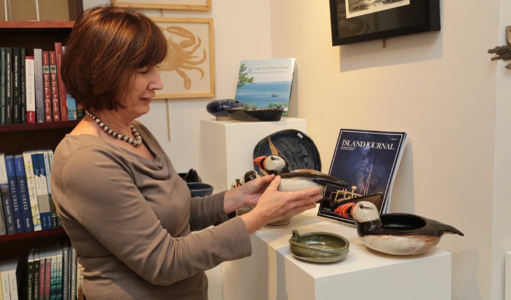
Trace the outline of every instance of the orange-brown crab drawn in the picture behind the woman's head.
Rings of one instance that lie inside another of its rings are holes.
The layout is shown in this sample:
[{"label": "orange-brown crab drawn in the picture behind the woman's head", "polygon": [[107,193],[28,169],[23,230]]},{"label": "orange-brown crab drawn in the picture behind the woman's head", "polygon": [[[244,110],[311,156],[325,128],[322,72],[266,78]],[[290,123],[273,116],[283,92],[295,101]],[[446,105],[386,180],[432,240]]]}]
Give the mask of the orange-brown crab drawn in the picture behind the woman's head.
[{"label": "orange-brown crab drawn in the picture behind the woman's head", "polygon": [[[161,31],[164,28],[160,27]],[[189,90],[192,87],[192,80],[188,77],[185,70],[197,70],[200,72],[200,79],[204,77],[204,70],[196,67],[206,60],[206,50],[203,49],[203,56],[200,60],[194,60],[198,56],[194,56],[195,51],[202,44],[200,37],[196,37],[192,32],[178,26],[170,26],[165,28],[170,34],[177,36],[173,38],[171,35],[167,38],[167,58],[160,64],[163,71],[176,71],[183,79],[183,86]]]}]

